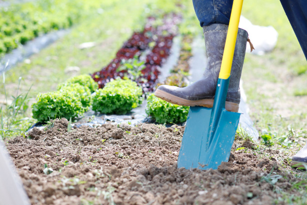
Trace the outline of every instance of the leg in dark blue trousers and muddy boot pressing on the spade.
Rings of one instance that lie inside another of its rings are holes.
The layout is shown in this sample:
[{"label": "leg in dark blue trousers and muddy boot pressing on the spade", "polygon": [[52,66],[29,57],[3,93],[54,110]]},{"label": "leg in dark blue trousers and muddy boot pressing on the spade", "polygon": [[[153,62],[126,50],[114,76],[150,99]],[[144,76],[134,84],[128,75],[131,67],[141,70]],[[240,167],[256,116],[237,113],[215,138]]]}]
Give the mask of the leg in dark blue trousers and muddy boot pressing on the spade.
[{"label": "leg in dark blue trousers and muddy boot pressing on the spade", "polygon": [[[174,104],[212,107],[228,31],[228,25],[216,22],[224,21],[227,24],[229,23],[231,7],[224,8],[221,5],[232,5],[232,0],[193,0],[193,3],[200,24],[208,24],[208,26],[203,26],[208,57],[205,73],[200,80],[184,88],[161,85],[154,95]],[[225,104],[225,108],[229,111],[237,112],[239,109],[239,83],[245,57],[246,41],[247,32],[239,29]]]}]

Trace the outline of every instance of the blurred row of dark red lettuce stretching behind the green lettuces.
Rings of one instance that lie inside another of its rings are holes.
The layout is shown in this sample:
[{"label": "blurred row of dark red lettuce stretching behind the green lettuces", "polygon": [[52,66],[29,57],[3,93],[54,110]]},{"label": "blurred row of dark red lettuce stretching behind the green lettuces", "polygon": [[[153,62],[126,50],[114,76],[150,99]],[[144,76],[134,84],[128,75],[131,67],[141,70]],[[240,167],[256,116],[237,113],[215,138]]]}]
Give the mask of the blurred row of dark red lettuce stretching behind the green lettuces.
[{"label": "blurred row of dark red lettuce stretching behind the green lettuces", "polygon": [[180,17],[164,16],[162,21],[149,17],[142,32],[135,32],[123,44],[116,57],[92,78],[99,88],[117,77],[129,78],[142,87],[143,92],[153,92],[160,67],[170,54],[173,37]]}]

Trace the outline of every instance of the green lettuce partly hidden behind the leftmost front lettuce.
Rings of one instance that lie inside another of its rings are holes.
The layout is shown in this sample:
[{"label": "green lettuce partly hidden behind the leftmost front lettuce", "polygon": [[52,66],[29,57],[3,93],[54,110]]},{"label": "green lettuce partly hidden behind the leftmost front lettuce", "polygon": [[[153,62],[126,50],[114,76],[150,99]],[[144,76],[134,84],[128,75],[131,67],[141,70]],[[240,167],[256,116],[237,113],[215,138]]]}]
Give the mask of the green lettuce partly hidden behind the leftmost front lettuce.
[{"label": "green lettuce partly hidden behind the leftmost front lettuce", "polygon": [[98,84],[92,79],[92,77],[88,74],[83,74],[83,75],[71,77],[68,80],[66,80],[65,83],[59,84],[58,90],[60,90],[62,87],[66,87],[66,86],[69,86],[75,83],[88,87],[91,93],[93,93],[96,89],[98,89]]}]

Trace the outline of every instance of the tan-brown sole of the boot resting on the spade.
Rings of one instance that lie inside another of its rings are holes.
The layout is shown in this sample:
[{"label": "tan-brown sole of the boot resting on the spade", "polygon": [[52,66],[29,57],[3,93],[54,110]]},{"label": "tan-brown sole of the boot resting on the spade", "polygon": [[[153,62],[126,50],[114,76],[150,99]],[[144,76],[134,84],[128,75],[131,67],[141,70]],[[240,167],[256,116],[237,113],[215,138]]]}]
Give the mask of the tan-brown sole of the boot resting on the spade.
[{"label": "tan-brown sole of the boot resting on the spade", "polygon": [[[213,99],[204,99],[204,100],[197,100],[197,101],[190,101],[183,98],[180,98],[178,96],[174,96],[172,94],[169,94],[162,90],[156,90],[154,92],[154,96],[157,98],[160,98],[164,101],[178,104],[182,106],[203,106],[203,107],[213,107]],[[239,111],[239,104],[234,102],[228,102],[225,103],[225,109],[230,112],[238,112]]]}]

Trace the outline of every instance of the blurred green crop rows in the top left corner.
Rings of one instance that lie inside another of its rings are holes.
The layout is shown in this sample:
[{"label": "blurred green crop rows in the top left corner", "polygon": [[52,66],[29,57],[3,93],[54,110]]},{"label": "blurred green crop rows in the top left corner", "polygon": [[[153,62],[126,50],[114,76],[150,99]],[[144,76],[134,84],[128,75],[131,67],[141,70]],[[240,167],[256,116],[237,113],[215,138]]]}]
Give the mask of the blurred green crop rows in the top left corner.
[{"label": "blurred green crop rows in the top left corner", "polygon": [[92,12],[102,12],[100,7],[105,4],[98,0],[34,0],[0,7],[0,56],[41,34],[67,29]]}]

